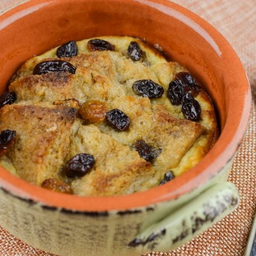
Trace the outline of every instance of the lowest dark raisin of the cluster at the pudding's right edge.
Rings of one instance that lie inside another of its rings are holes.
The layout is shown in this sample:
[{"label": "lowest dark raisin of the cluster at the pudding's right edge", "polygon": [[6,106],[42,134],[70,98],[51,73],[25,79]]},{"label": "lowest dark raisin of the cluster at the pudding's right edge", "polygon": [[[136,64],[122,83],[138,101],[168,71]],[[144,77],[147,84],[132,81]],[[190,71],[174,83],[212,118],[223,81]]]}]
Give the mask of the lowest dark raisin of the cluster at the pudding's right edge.
[{"label": "lowest dark raisin of the cluster at the pudding's right edge", "polygon": [[189,93],[186,93],[182,98],[181,111],[188,120],[198,121],[200,119],[201,107],[198,101]]}]

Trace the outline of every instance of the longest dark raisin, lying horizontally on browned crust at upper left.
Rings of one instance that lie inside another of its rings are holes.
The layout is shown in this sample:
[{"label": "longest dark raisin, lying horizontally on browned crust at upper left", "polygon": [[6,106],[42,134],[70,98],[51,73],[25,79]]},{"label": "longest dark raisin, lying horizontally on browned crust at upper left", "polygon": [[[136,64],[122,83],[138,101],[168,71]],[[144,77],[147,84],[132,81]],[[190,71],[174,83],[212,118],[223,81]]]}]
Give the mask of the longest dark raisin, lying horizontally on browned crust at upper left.
[{"label": "longest dark raisin, lying horizontally on browned crust at upper left", "polygon": [[76,73],[76,67],[71,63],[64,60],[49,60],[38,63],[34,70],[33,75],[42,75],[49,72],[60,72],[65,71],[71,74]]}]

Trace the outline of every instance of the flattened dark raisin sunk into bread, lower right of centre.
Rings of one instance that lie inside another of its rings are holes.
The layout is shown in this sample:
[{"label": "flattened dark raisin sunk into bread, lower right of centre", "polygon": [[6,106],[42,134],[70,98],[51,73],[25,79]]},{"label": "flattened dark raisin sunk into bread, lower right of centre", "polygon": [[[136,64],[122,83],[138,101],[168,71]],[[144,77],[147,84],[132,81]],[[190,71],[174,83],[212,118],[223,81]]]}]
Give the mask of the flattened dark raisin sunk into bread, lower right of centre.
[{"label": "flattened dark raisin sunk into bread, lower right of centre", "polygon": [[133,147],[138,151],[140,157],[148,162],[153,161],[162,151],[159,148],[155,149],[153,146],[148,145],[144,140],[137,140]]}]

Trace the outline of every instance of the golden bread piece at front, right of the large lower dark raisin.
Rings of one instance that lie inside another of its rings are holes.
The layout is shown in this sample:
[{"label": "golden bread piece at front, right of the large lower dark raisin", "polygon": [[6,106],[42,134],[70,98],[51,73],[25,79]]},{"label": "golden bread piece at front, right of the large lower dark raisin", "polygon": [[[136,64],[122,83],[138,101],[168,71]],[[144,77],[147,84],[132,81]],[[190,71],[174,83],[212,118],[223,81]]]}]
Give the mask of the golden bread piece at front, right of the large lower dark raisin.
[{"label": "golden bread piece at front, right of the large lower dark raisin", "polygon": [[94,125],[81,126],[71,137],[68,158],[86,152],[96,159],[91,172],[72,182],[78,195],[120,195],[146,189],[143,183],[154,176],[150,163]]}]

